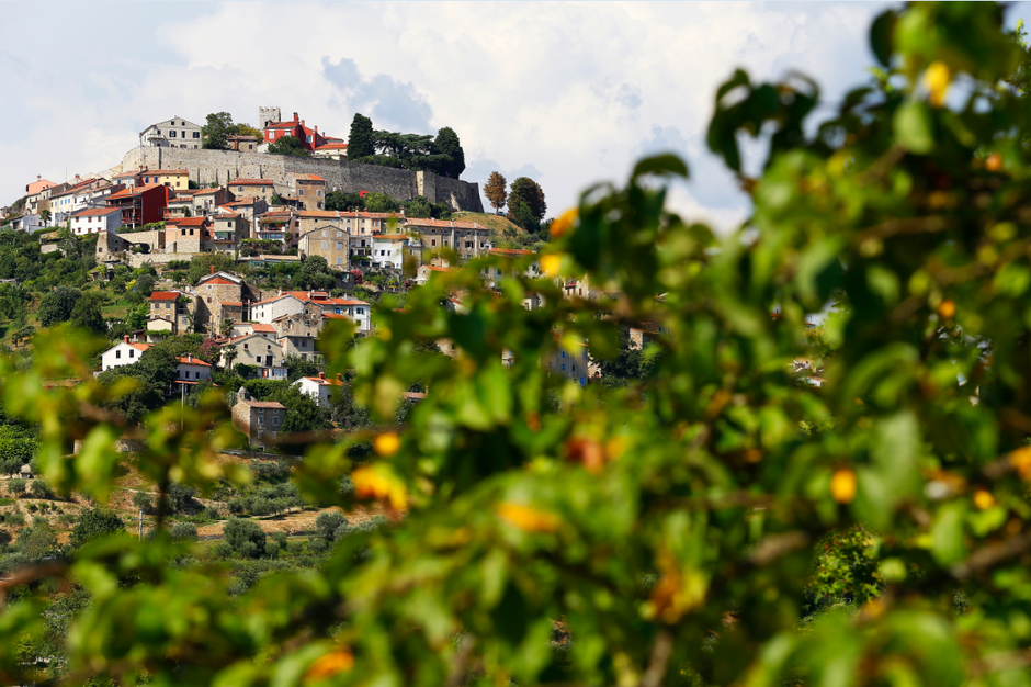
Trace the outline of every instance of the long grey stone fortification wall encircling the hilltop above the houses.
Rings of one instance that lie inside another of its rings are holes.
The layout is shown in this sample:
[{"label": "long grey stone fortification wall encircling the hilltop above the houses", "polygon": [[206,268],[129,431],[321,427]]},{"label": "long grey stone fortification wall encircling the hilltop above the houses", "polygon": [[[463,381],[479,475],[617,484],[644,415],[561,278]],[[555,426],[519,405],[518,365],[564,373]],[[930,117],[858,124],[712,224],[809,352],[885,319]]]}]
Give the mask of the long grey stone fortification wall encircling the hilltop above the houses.
[{"label": "long grey stone fortification wall encircling the hilltop above the houses", "polygon": [[192,148],[133,148],[122,158],[120,170],[146,165],[150,169],[185,169],[202,187],[225,184],[235,178],[271,179],[277,192],[293,184],[294,174],[318,174],[327,192],[381,191],[399,201],[424,195],[431,203],[450,203],[456,210],[484,212],[479,184],[377,165],[347,160],[291,157],[237,150]]}]

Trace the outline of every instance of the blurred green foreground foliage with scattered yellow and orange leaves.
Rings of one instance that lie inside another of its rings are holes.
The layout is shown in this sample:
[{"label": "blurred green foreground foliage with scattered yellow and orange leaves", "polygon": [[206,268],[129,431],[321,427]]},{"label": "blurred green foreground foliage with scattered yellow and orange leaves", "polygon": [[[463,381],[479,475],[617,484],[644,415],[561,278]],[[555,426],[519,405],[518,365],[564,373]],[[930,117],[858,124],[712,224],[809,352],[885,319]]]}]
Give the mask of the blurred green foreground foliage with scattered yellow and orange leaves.
[{"label": "blurred green foreground foliage with scattered yellow and orange leaves", "polygon": [[[517,259],[547,279],[509,269],[495,290],[483,269],[513,263],[488,256],[377,309],[378,336],[331,323],[327,376],[371,424],[355,413],[290,478],[388,522],[335,531],[317,567],[257,573],[276,547],[230,520],[246,585],[191,563],[160,516],[149,540],[4,556],[4,682],[1023,685],[1031,83],[1002,20],[990,3],[888,9],[877,74],[832,110],[798,75],[732,75],[706,142],[754,209],[726,236],[667,207],[683,160],[646,158]],[[597,297],[556,283],[581,280]],[[455,292],[461,312],[442,308]],[[627,328],[654,334],[649,369],[619,360]],[[443,340],[456,358],[413,354]],[[31,368],[3,359],[0,376],[7,410],[39,426],[48,483],[103,502],[113,392],[41,383],[88,370],[88,348],[44,330]],[[550,367],[613,359],[618,388]],[[217,401],[154,410],[140,475],[248,483],[220,459],[228,424]],[[47,641],[60,665],[34,675]]]}]

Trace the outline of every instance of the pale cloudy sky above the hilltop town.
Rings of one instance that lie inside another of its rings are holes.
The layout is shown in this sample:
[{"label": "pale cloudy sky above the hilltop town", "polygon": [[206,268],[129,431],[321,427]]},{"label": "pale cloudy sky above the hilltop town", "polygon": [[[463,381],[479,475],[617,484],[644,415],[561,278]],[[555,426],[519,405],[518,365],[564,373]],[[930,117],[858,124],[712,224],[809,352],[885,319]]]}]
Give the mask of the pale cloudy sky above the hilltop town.
[{"label": "pale cloudy sky above the hilltop town", "polygon": [[258,125],[276,105],[342,138],[355,112],[377,129],[450,126],[463,179],[530,177],[548,216],[673,151],[692,178],[672,204],[728,228],[748,203],[705,148],[718,85],[738,67],[801,71],[829,113],[869,80],[868,27],[890,4],[0,1],[0,204],[37,174],[111,168],[155,122],[225,111]]}]

